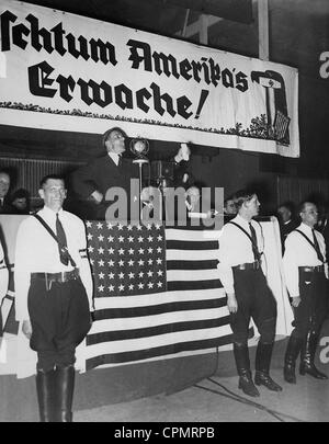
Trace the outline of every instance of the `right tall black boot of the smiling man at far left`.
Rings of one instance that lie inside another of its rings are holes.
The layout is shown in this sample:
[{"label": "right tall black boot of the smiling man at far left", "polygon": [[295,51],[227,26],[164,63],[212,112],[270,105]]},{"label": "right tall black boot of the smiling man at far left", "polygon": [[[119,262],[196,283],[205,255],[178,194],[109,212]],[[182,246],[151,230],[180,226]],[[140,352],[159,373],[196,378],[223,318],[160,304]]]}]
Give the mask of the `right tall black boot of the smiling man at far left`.
[{"label": "right tall black boot of the smiling man at far left", "polygon": [[76,371],[73,365],[56,368],[57,421],[72,422]]}]

